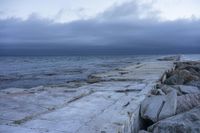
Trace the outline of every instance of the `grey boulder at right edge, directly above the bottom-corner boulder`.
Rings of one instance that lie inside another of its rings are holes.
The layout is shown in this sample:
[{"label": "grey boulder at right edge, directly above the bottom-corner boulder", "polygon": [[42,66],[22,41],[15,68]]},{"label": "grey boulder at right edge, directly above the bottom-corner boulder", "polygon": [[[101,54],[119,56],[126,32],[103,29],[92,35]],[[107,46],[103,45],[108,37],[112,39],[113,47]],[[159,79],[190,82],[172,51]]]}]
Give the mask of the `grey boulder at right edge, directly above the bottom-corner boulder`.
[{"label": "grey boulder at right edge, directly above the bottom-corner boulder", "polygon": [[176,114],[188,111],[200,105],[200,94],[187,94],[178,96]]}]

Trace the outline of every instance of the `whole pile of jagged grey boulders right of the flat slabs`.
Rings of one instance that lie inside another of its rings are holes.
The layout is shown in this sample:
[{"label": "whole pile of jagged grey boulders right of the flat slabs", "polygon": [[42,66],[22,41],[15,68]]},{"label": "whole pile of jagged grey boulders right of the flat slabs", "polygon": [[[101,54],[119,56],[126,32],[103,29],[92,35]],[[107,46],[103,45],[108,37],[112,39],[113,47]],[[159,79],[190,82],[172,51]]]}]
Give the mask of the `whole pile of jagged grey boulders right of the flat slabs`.
[{"label": "whole pile of jagged grey boulders right of the flat slabs", "polygon": [[139,133],[199,133],[200,62],[176,62],[141,103],[140,117]]}]

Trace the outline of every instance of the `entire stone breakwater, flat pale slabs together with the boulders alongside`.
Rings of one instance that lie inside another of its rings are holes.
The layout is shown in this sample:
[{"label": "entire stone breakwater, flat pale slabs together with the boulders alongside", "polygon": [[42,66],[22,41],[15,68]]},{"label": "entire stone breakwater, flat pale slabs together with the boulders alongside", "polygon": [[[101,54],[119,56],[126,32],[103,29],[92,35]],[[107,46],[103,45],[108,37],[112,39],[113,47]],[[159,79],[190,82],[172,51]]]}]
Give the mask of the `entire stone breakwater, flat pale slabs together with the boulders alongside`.
[{"label": "entire stone breakwater, flat pale slabs together with the boulders alongside", "polygon": [[0,106],[3,133],[198,133],[200,62],[170,56],[67,86],[8,88]]}]

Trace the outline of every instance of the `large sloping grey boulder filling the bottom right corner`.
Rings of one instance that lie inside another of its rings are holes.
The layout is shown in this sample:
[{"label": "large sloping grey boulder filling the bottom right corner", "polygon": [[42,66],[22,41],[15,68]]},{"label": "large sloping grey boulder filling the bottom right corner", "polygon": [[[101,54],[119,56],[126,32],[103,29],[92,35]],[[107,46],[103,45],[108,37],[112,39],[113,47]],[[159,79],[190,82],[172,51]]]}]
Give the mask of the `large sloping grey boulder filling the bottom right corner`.
[{"label": "large sloping grey boulder filling the bottom right corner", "polygon": [[152,133],[200,133],[200,106],[148,127]]}]

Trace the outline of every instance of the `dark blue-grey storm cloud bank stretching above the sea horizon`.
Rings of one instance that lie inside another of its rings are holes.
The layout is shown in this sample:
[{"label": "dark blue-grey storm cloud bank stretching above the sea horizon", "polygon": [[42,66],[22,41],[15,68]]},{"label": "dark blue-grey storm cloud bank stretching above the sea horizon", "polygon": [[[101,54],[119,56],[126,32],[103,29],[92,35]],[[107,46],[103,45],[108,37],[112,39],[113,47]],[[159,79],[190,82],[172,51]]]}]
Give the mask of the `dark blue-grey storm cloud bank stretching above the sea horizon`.
[{"label": "dark blue-grey storm cloud bank stretching above the sea horizon", "polygon": [[156,11],[136,3],[114,6],[94,19],[71,23],[54,23],[37,15],[26,21],[0,21],[0,55],[199,52],[199,20],[160,22]]}]

